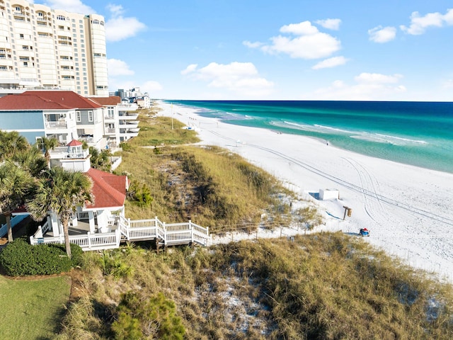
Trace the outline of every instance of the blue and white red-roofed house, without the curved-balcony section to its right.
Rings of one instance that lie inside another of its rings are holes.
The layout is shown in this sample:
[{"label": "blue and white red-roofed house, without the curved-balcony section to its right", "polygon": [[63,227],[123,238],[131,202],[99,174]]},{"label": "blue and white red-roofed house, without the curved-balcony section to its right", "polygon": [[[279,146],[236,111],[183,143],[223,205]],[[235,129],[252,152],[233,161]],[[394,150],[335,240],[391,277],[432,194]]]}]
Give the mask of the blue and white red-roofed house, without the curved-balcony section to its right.
[{"label": "blue and white red-roofed house, without the curved-balcony section to its right", "polygon": [[85,140],[102,149],[103,106],[73,91],[25,91],[0,98],[0,129],[16,130],[30,144],[55,137],[60,145]]}]

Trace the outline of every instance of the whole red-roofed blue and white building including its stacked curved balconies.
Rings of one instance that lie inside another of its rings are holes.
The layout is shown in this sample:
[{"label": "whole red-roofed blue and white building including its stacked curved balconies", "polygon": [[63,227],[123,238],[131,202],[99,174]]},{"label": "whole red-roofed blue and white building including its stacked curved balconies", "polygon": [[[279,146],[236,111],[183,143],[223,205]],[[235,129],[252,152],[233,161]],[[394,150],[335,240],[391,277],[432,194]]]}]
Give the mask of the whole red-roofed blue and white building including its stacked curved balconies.
[{"label": "whole red-roofed blue and white building including its stacked curved balconies", "polygon": [[0,130],[16,130],[34,144],[55,137],[60,146],[81,140],[114,148],[137,137],[137,104],[119,97],[80,96],[73,91],[25,91],[0,98]]}]

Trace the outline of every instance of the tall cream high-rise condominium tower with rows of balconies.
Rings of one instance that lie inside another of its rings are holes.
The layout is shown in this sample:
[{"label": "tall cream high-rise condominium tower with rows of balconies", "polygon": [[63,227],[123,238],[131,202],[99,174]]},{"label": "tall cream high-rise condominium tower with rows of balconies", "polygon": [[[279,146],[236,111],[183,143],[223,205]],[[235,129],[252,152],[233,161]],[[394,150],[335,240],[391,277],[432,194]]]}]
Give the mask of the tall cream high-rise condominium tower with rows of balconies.
[{"label": "tall cream high-rise condominium tower with rows of balconies", "polygon": [[105,21],[24,0],[0,0],[0,88],[108,96]]}]

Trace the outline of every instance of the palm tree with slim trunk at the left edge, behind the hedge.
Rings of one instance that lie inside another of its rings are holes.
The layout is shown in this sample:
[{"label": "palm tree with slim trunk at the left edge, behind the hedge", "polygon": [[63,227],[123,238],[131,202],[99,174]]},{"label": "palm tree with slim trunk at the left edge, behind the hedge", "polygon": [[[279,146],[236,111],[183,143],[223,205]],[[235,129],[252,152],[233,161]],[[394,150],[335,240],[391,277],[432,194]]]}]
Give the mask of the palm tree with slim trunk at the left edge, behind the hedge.
[{"label": "palm tree with slim trunk at the left edge, behind the hedge", "polygon": [[25,200],[33,186],[33,177],[13,162],[0,165],[0,213],[6,217],[8,225],[8,242],[13,242],[11,213]]}]

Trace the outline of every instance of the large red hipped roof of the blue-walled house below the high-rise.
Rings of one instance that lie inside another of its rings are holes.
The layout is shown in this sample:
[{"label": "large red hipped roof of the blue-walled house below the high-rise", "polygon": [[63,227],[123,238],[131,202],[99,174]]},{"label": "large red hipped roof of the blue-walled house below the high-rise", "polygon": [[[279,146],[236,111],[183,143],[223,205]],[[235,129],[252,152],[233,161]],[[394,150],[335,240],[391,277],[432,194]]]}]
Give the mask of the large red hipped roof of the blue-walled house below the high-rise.
[{"label": "large red hipped roof of the blue-walled house below the high-rise", "polygon": [[102,105],[73,91],[25,91],[0,98],[0,110],[93,109]]}]

